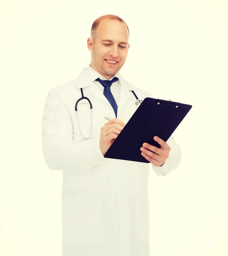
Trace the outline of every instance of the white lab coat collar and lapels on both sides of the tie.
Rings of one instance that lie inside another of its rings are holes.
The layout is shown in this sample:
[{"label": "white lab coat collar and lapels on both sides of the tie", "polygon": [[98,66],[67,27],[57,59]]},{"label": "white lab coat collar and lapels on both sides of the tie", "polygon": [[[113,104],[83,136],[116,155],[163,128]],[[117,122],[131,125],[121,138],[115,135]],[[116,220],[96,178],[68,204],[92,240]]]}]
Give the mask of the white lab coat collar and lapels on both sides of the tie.
[{"label": "white lab coat collar and lapels on both sides of the tie", "polygon": [[[88,67],[84,67],[80,75],[78,76],[77,88],[89,87],[89,92],[92,93],[93,96],[110,105],[110,103],[108,102],[104,94],[101,93],[99,88],[93,83],[93,81],[98,77],[102,78],[102,76],[98,72],[93,70],[90,67],[90,65]],[[120,72],[116,73],[115,77],[118,77],[120,82],[120,96],[119,96],[118,111],[117,111],[117,115],[119,115],[121,110],[124,108],[124,105],[127,103],[128,99],[130,98],[132,94],[131,90],[134,90],[134,87],[132,84],[128,83],[123,76],[121,76]]]}]

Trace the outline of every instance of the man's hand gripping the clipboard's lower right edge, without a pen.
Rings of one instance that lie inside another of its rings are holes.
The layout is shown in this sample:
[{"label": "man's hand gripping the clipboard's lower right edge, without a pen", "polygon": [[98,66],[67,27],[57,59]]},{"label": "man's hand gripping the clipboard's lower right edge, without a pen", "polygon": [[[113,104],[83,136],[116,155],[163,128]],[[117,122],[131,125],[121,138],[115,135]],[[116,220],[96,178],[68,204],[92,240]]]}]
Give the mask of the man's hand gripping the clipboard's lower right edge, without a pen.
[{"label": "man's hand gripping the clipboard's lower right edge, without a pen", "polygon": [[142,151],[141,155],[150,161],[153,166],[161,166],[169,157],[170,146],[157,136],[154,136],[153,139],[161,145],[161,148],[157,148],[148,143],[143,143],[143,146],[140,148]]}]

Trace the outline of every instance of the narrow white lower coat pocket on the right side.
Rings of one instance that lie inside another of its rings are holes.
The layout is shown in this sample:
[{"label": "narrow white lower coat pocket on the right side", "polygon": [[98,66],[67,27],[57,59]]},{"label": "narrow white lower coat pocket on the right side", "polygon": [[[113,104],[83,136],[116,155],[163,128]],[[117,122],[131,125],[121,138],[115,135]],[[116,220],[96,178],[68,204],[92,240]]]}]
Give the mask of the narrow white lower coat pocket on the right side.
[{"label": "narrow white lower coat pocket on the right side", "polygon": [[136,203],[136,239],[149,241],[150,209],[147,199],[138,199]]}]

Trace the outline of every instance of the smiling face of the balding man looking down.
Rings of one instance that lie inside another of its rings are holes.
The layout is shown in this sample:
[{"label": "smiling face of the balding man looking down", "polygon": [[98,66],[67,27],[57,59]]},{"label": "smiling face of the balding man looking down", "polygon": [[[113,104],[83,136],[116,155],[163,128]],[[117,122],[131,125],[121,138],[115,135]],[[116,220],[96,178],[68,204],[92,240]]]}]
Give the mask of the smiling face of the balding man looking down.
[{"label": "smiling face of the balding man looking down", "polygon": [[[123,67],[127,58],[130,47],[127,26],[118,20],[101,21],[95,43],[92,44],[92,39],[89,38],[87,47],[92,52],[90,67],[107,80],[112,78]],[[117,63],[110,64],[107,60]]]}]

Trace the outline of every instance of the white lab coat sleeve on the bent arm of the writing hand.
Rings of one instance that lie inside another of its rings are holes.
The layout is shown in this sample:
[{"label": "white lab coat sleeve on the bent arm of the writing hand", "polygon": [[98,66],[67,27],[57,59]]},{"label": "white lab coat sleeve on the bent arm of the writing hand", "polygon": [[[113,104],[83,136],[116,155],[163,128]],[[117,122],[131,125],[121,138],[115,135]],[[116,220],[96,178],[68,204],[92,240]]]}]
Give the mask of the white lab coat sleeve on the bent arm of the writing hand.
[{"label": "white lab coat sleeve on the bent arm of the writing hand", "polygon": [[73,124],[69,111],[55,92],[49,91],[41,120],[42,149],[46,165],[52,170],[88,171],[104,160],[99,137],[73,141]]}]

